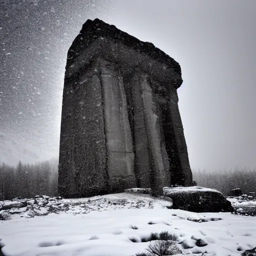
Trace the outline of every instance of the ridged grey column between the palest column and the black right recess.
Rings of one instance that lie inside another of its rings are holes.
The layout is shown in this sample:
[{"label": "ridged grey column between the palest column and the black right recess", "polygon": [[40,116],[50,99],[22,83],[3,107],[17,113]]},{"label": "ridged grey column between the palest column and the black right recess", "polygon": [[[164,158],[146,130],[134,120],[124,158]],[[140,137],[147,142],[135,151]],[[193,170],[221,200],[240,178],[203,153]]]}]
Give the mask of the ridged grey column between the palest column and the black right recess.
[{"label": "ridged grey column between the palest column and the black right recess", "polygon": [[135,171],[140,187],[150,187],[153,195],[162,194],[164,163],[159,117],[147,76],[135,74],[133,87]]}]

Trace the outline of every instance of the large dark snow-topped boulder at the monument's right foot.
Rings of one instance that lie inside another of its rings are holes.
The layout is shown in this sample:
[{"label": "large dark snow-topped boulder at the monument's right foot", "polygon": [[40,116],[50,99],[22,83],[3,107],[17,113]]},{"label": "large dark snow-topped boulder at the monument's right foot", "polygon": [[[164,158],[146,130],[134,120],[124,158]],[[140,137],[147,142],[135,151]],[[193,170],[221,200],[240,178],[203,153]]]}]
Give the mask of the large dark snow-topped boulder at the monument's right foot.
[{"label": "large dark snow-topped boulder at the monument's right foot", "polygon": [[216,189],[201,186],[164,187],[163,195],[172,199],[172,208],[193,212],[232,212],[231,203]]}]

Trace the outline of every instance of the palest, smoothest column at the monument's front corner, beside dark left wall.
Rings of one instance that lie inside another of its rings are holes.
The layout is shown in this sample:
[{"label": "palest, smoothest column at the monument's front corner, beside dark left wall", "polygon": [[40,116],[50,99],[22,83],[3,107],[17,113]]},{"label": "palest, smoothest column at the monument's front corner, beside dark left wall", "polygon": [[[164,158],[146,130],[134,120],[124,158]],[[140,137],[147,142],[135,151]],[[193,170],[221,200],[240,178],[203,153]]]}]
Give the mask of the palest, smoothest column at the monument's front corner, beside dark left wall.
[{"label": "palest, smoothest column at the monument's front corner, beside dark left wall", "polygon": [[111,191],[136,187],[133,169],[134,153],[122,77],[113,63],[99,60],[106,159]]}]

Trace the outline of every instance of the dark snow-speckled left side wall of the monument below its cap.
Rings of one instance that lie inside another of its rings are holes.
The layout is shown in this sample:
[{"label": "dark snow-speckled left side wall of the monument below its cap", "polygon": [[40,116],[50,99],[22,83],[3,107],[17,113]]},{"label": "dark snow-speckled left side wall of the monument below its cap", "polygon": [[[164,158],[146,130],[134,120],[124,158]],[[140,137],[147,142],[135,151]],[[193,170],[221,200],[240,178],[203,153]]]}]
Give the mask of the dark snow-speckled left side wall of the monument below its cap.
[{"label": "dark snow-speckled left side wall of the monument below its cap", "polygon": [[65,81],[58,190],[63,196],[107,192],[101,83],[97,62]]}]

